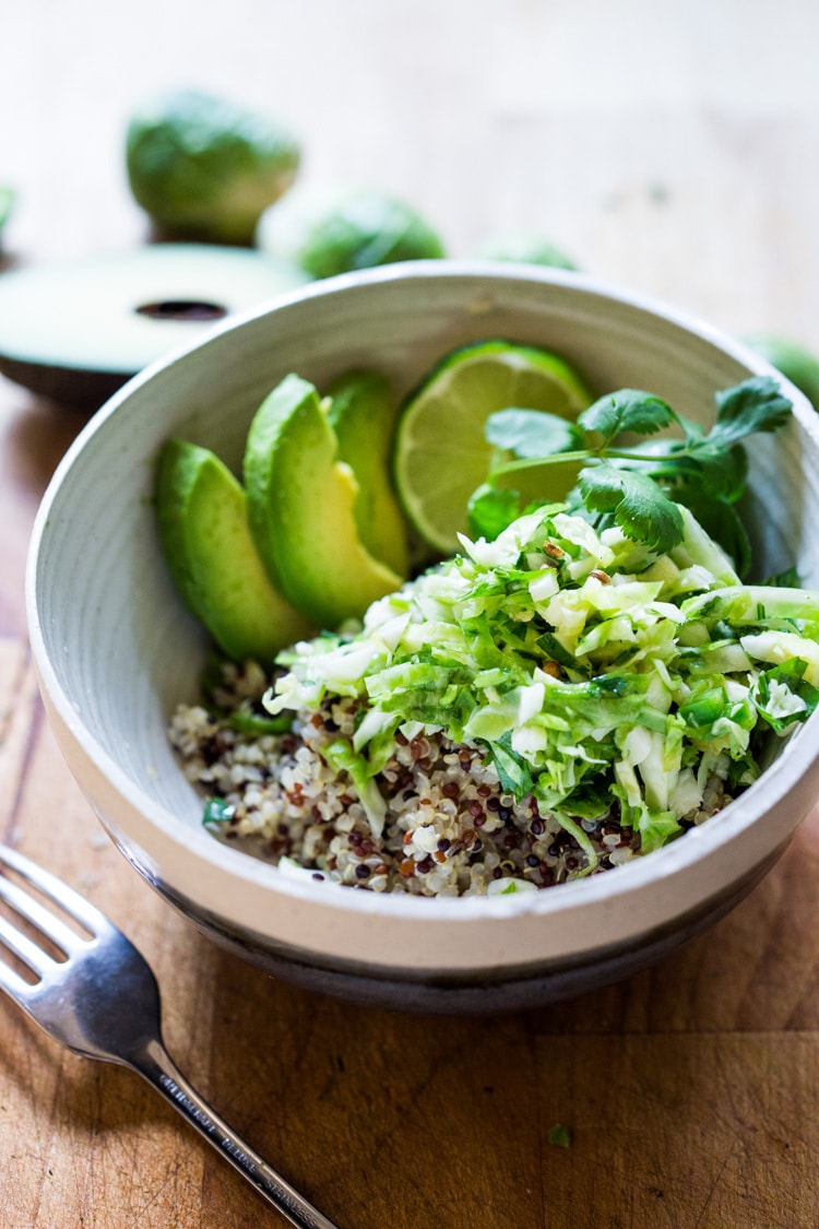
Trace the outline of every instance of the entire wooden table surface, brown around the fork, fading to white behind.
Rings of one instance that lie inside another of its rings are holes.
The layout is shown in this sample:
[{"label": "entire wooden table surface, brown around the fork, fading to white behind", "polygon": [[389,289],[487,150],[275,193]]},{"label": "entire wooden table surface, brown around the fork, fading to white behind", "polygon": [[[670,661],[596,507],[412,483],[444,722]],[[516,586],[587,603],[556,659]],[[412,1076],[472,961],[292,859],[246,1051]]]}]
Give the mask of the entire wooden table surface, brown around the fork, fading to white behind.
[{"label": "entire wooden table surface, brown around the fork, fading to white behind", "polygon": [[[587,270],[819,348],[819,14],[808,0],[102,0],[6,5],[0,182],[21,261],[144,242],[140,97],[200,85],[287,119],[305,183],[414,200],[465,256],[538,230]],[[23,564],[82,424],[0,380],[0,834],[106,909],[171,1052],[340,1229],[815,1229],[819,814],[708,934],[508,1016],[318,998],[203,939],[109,844],[32,677]],[[571,1147],[549,1143],[564,1123]],[[0,1002],[9,1229],[282,1222],[138,1077]]]}]

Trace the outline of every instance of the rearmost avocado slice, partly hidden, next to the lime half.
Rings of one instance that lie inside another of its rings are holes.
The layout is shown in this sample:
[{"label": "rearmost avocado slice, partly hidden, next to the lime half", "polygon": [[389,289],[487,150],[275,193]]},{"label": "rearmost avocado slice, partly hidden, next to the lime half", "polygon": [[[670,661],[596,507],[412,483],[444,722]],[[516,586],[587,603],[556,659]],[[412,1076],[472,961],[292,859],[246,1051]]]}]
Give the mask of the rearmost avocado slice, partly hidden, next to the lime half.
[{"label": "rearmost avocado slice, partly hidden, next to the lime half", "polygon": [[339,461],[346,461],[359,483],[359,536],[370,554],[405,576],[406,530],[389,481],[395,420],[389,381],[378,371],[345,371],[333,381],[327,396],[327,418],[339,441]]}]

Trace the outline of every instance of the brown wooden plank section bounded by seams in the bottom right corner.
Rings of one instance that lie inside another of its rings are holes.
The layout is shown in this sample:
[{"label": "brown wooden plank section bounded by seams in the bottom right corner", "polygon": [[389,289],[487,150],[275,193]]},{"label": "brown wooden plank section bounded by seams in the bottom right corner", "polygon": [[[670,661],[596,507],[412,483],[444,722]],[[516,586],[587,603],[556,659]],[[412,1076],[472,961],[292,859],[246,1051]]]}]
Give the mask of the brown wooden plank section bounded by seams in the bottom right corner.
[{"label": "brown wooden plank section bounded by seams in the bottom right corner", "polygon": [[569,1117],[572,1136],[544,1155],[544,1223],[815,1224],[817,1047],[813,1032],[543,1039],[544,1121]]}]

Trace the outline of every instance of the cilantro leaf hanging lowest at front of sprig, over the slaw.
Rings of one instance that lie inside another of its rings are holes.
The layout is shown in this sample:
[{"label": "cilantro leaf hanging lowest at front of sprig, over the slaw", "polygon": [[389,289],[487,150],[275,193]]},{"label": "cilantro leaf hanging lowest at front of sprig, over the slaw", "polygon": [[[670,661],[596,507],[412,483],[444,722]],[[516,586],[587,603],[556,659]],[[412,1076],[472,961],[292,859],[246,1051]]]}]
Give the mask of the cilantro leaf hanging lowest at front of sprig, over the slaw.
[{"label": "cilantro leaf hanging lowest at front of sprig, over the slaw", "polygon": [[613,512],[615,524],[635,542],[664,554],[683,541],[679,508],[647,474],[600,461],[581,472],[578,485],[586,506]]}]

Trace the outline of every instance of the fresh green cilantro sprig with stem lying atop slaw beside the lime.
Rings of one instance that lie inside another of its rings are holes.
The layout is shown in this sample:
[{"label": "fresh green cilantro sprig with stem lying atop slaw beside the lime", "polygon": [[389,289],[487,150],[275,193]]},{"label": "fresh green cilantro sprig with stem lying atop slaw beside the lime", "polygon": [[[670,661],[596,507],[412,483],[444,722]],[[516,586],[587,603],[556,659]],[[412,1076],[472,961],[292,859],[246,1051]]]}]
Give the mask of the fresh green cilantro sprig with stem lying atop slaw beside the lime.
[{"label": "fresh green cilantro sprig with stem lying atop slaw beside the lime", "polygon": [[[734,506],[748,479],[744,441],[785,425],[792,406],[770,376],[744,380],[715,401],[707,433],[662,397],[637,388],[607,393],[576,423],[514,407],[491,414],[485,431],[494,462],[469,503],[473,532],[495,538],[521,515],[518,471],[573,465],[576,487],[565,498],[593,524],[619,525],[627,537],[664,553],[683,540],[677,505],[684,504],[744,574],[750,549]],[[651,439],[668,429],[677,435]],[[634,436],[642,439],[631,442]],[[548,478],[544,499],[554,501]]]}]

